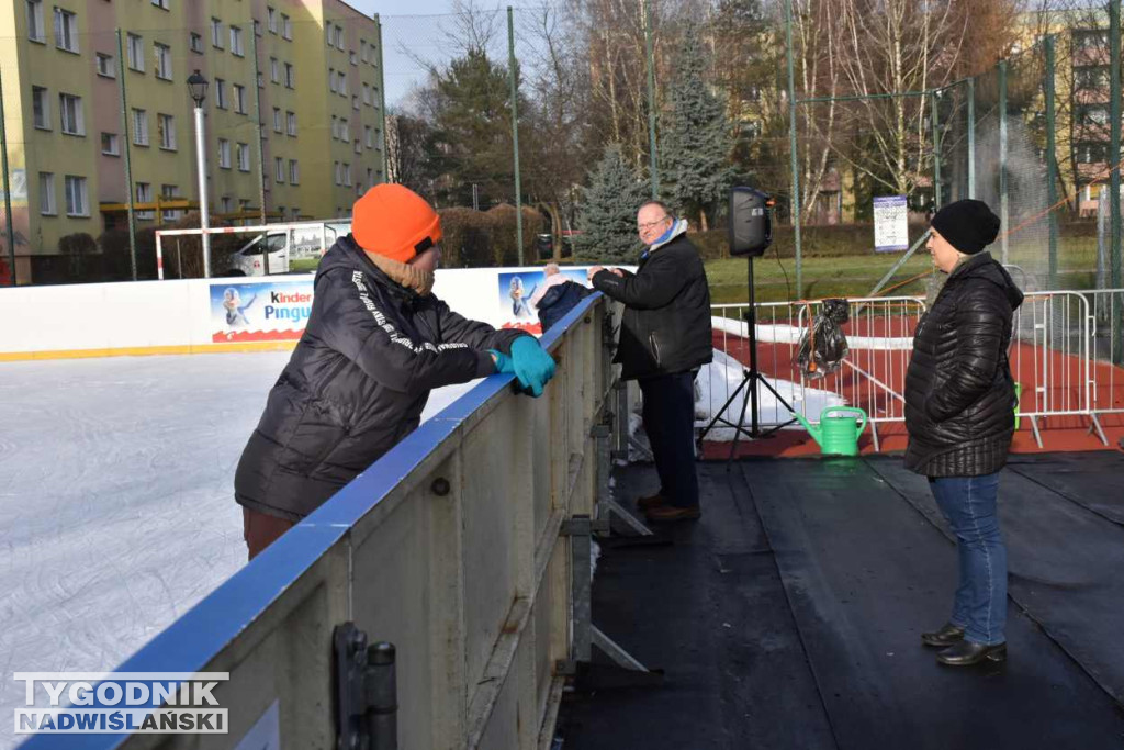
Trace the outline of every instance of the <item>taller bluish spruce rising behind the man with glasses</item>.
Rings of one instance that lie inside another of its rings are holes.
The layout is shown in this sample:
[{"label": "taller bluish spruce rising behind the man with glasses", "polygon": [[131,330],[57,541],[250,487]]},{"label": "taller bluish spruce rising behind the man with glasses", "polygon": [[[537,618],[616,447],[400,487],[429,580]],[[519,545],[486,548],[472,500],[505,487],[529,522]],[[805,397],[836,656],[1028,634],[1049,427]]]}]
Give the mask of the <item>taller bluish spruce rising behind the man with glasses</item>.
[{"label": "taller bluish spruce rising behind the man with glasses", "polygon": [[734,180],[733,139],[722,99],[707,82],[709,49],[698,26],[688,24],[668,92],[660,175],[663,192],[686,216],[706,227],[706,213],[726,197]]}]

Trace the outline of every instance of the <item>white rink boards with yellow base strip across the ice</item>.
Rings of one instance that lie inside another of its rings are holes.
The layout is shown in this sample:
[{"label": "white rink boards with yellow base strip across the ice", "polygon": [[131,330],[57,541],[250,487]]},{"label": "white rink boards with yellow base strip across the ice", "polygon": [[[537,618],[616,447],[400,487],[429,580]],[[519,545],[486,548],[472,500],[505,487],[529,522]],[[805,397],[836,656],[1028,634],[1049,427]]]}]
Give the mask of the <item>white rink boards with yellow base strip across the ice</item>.
[{"label": "white rink boards with yellow base strip across the ice", "polygon": [[[565,266],[563,273],[583,281],[586,268]],[[523,281],[524,299],[544,278],[538,266],[447,269],[437,271],[434,292],[461,315],[497,327],[535,324],[533,310],[513,316],[515,275]],[[253,289],[290,284],[311,293],[312,274],[0,289],[0,359],[288,347],[299,337],[302,323],[290,326],[288,341],[216,342],[224,320],[221,310],[216,316],[212,296],[235,287],[247,299]],[[263,307],[250,309],[253,315]]]}]

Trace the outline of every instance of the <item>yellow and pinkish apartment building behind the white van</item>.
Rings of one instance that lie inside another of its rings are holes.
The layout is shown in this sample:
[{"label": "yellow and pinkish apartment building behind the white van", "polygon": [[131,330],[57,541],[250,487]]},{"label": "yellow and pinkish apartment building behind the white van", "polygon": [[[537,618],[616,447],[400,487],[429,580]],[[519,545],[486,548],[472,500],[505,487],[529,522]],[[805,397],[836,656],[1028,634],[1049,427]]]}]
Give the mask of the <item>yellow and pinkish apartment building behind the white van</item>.
[{"label": "yellow and pinkish apartment building behind the white van", "polygon": [[3,3],[17,255],[123,226],[130,197],[140,228],[198,206],[197,70],[212,215],[346,216],[383,180],[380,65],[375,21],[339,0]]}]

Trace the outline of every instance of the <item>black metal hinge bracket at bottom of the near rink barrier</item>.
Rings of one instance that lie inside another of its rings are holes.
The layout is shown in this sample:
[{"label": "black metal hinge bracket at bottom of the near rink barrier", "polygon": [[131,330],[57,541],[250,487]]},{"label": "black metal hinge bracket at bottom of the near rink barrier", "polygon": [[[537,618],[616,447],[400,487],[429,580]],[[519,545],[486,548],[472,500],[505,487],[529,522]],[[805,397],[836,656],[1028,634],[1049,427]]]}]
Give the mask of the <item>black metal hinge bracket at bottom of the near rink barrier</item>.
[{"label": "black metal hinge bracket at bottom of the near rink barrier", "polygon": [[368,647],[353,622],[333,633],[336,750],[398,750],[398,687],[391,643]]}]

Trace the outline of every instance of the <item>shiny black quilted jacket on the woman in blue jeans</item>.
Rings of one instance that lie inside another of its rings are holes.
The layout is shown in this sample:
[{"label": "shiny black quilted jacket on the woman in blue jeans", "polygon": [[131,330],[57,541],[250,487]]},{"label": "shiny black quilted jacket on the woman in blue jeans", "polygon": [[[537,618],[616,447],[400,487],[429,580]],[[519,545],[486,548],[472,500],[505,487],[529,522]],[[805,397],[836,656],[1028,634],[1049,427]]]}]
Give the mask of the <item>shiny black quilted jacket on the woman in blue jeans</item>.
[{"label": "shiny black quilted jacket on the woman in blue jeans", "polygon": [[1010,322],[1023,292],[990,253],[953,269],[914,334],[906,373],[905,466],[928,477],[980,477],[1007,462],[1015,386]]}]

